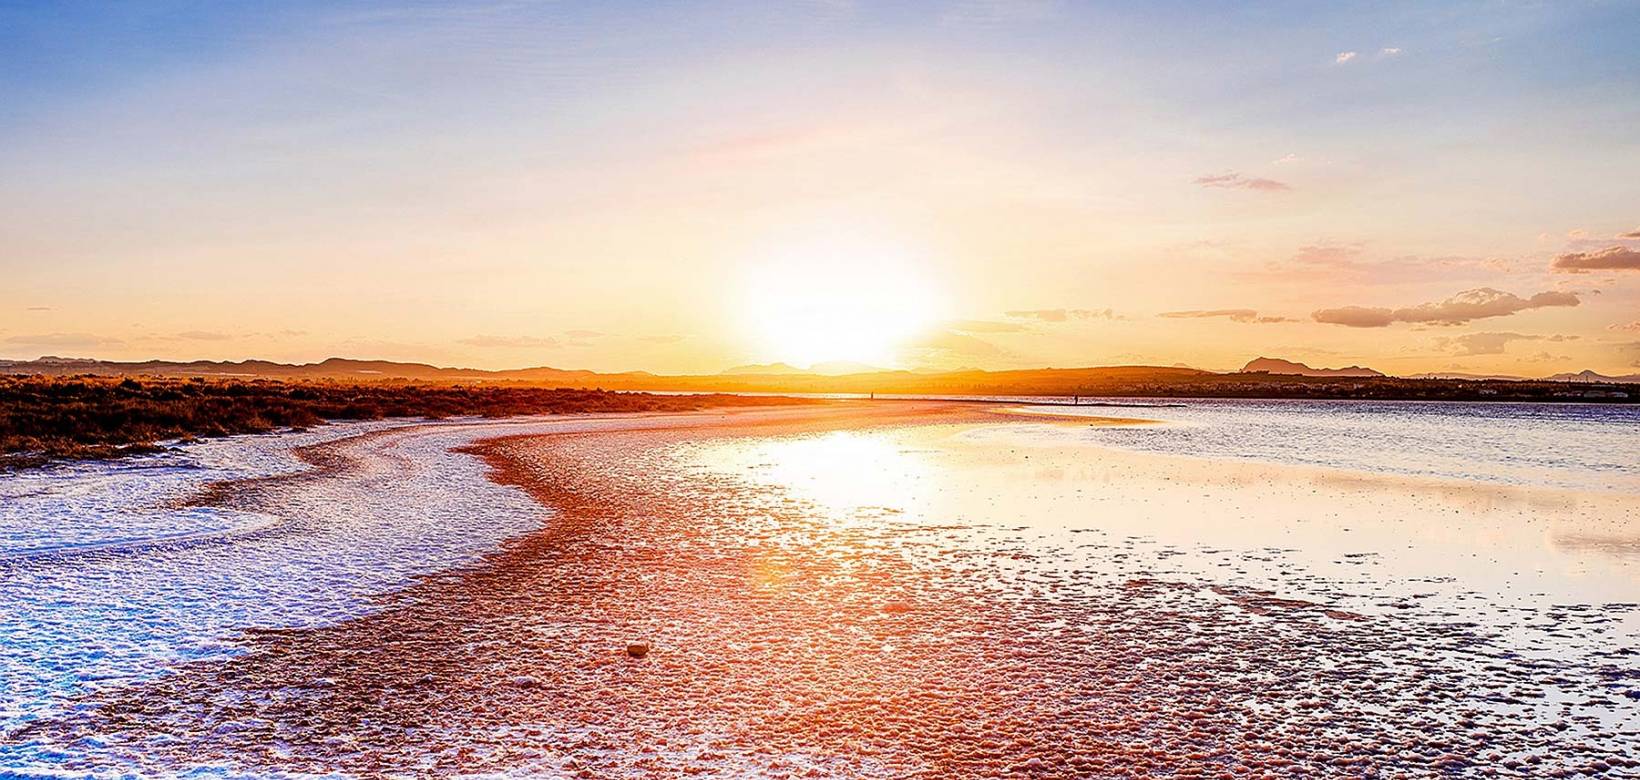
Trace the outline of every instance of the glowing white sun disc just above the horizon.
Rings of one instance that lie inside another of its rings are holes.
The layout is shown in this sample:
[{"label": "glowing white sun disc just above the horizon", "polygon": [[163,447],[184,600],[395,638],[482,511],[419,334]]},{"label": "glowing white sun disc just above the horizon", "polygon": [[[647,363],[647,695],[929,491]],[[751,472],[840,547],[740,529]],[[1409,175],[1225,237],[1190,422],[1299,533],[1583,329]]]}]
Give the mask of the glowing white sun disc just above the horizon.
[{"label": "glowing white sun disc just above the horizon", "polygon": [[935,288],[913,257],[889,246],[810,246],[754,262],[745,326],[759,354],[799,367],[897,367],[936,318]]}]

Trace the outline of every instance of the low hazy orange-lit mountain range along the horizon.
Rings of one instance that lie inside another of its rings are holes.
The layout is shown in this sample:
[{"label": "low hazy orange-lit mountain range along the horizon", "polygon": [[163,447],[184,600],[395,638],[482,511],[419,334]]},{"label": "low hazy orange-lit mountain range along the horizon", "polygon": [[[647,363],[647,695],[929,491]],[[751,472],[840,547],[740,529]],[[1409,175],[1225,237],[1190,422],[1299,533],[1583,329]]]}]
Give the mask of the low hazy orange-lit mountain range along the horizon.
[{"label": "low hazy orange-lit mountain range along the horizon", "polygon": [[[41,357],[36,361],[0,361],[0,374],[71,375],[157,375],[157,377],[220,377],[220,379],[307,379],[307,380],[412,380],[412,382],[528,382],[553,387],[582,387],[605,390],[723,390],[723,392],[817,392],[817,393],[951,393],[951,395],[1009,395],[1009,393],[1063,393],[1097,395],[1104,392],[1173,393],[1186,385],[1246,383],[1260,375],[1305,379],[1392,379],[1383,372],[1348,365],[1343,369],[1314,369],[1302,362],[1276,357],[1258,357],[1240,372],[1215,374],[1189,367],[1161,365],[1105,365],[1086,369],[1022,369],[1022,370],[946,370],[912,372],[882,370],[861,364],[820,364],[797,369],[787,364],[740,365],[722,374],[659,375],[641,370],[600,374],[579,369],[446,369],[420,362],[354,361],[331,357],[312,364],[282,364],[272,361],[95,361],[87,357]],[[1420,374],[1404,377],[1412,380],[1471,380],[1471,382],[1566,382],[1566,383],[1640,383],[1640,374],[1609,377],[1584,370],[1556,374],[1542,380],[1510,375],[1478,374]]]}]

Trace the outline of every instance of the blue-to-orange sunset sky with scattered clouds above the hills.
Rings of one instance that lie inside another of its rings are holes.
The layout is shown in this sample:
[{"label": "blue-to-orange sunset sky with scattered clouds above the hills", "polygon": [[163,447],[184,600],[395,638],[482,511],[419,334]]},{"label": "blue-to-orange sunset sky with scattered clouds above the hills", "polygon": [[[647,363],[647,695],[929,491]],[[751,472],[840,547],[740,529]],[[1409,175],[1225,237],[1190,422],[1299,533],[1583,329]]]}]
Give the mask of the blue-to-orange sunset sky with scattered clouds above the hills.
[{"label": "blue-to-orange sunset sky with scattered clouds above the hills", "polygon": [[0,0],[0,357],[1632,374],[1637,41],[1578,0]]}]

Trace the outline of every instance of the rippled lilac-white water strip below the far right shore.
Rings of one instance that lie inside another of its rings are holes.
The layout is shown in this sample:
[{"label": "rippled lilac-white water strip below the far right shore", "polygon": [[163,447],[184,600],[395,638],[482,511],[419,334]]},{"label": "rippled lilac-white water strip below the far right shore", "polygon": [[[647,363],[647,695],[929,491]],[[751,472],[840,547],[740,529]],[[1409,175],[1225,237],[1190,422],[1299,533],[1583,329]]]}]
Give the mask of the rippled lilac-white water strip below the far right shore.
[{"label": "rippled lilac-white water strip below the far right shore", "polygon": [[1148,452],[1363,472],[1640,492],[1640,406],[1191,398],[1166,406],[1027,406],[1150,418],[1086,438]]}]

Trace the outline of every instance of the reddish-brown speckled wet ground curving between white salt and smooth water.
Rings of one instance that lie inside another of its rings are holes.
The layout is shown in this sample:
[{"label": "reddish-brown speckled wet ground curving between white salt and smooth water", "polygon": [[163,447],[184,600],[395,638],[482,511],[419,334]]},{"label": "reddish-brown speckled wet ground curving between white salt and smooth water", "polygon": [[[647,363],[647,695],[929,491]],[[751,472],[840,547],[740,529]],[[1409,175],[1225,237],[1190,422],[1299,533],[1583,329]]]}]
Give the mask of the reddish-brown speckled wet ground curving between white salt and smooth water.
[{"label": "reddish-brown speckled wet ground curving between white salt and smooth water", "polygon": [[[1633,711],[1630,657],[1568,665],[1476,623],[1356,610],[1297,569],[1291,592],[1253,588],[1168,567],[1174,554],[1133,539],[1041,533],[1005,511],[907,521],[851,492],[871,474],[843,469],[830,478],[845,485],[805,490],[771,480],[779,462],[766,452],[723,456],[995,419],[879,403],[492,441],[477,454],[495,480],[553,510],[540,531],[369,616],[257,633],[244,655],[89,700],[21,736],[82,755],[97,739],[90,754],[146,772],[1640,769],[1640,732],[1609,718]],[[840,492],[848,500],[828,501]],[[246,500],[231,493],[218,498]],[[631,642],[651,649],[635,659]]]}]

